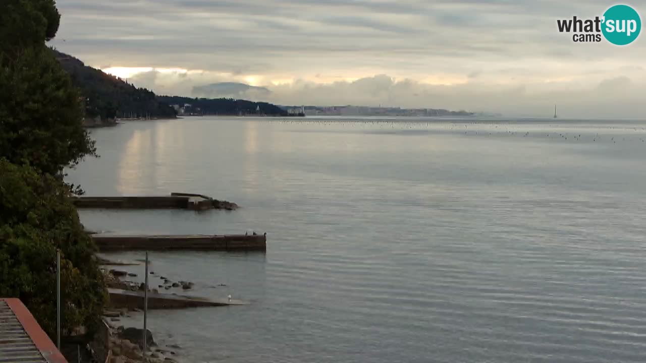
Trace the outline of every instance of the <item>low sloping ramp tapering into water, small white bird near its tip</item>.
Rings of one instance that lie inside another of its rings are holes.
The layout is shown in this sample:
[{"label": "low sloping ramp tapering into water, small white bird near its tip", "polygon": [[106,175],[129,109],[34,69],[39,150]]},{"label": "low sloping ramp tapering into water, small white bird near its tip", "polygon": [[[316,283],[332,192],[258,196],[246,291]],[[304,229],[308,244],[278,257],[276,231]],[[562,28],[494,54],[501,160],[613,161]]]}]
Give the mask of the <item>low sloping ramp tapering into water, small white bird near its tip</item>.
[{"label": "low sloping ramp tapering into water, small white bird near its tip", "polygon": [[[110,307],[117,309],[143,309],[144,294],[143,291],[130,291],[121,289],[108,289],[110,295]],[[182,309],[184,307],[204,307],[204,306],[231,306],[244,305],[239,300],[217,299],[209,300],[196,296],[183,296],[172,294],[160,294],[148,292],[149,309]]]}]

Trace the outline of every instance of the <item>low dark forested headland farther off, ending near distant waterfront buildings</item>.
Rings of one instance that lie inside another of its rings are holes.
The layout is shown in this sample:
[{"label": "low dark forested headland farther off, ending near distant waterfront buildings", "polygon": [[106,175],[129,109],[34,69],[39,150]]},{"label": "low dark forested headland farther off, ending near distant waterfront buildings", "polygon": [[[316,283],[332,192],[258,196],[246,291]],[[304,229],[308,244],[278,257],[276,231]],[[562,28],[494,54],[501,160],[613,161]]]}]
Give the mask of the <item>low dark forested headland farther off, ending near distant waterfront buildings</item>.
[{"label": "low dark forested headland farther off, ending near distant waterfront buildings", "polygon": [[[177,105],[184,114],[231,115],[231,116],[287,116],[287,111],[267,102],[253,102],[233,98],[189,98],[179,96],[157,96],[157,99]],[[180,112],[180,114],[182,114]]]}]

